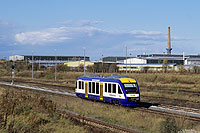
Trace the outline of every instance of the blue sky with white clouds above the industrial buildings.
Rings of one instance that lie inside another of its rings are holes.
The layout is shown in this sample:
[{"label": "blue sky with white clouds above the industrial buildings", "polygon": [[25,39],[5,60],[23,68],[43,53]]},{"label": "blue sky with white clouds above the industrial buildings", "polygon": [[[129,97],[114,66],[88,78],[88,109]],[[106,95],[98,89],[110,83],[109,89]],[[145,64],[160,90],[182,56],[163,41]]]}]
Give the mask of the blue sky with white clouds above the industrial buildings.
[{"label": "blue sky with white clouds above the industrial buildings", "polygon": [[11,55],[200,54],[199,0],[2,0],[0,59]]}]

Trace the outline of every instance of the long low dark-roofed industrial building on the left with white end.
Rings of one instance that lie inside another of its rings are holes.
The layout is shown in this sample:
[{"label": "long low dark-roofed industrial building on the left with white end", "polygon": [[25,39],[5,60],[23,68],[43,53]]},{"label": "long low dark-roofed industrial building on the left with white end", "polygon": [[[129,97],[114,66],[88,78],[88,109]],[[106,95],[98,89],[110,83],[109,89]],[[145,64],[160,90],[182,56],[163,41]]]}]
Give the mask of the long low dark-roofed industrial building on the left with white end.
[{"label": "long low dark-roofed industrial building on the left with white end", "polygon": [[[33,57],[33,60],[32,60]],[[14,55],[9,56],[10,61],[26,61],[29,63],[38,63],[44,66],[54,66],[55,64],[64,64],[65,62],[81,61],[84,56],[41,56],[41,55]],[[85,61],[90,61],[90,57],[85,56]]]}]

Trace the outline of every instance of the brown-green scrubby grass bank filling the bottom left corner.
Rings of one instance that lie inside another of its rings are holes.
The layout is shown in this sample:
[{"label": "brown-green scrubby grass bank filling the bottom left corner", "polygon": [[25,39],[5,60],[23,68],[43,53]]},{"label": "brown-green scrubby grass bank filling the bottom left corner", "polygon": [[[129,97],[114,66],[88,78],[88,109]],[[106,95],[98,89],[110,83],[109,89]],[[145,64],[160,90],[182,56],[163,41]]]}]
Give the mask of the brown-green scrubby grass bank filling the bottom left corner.
[{"label": "brown-green scrubby grass bank filling the bottom left corner", "polygon": [[55,113],[55,104],[40,94],[0,88],[0,132],[89,132]]}]

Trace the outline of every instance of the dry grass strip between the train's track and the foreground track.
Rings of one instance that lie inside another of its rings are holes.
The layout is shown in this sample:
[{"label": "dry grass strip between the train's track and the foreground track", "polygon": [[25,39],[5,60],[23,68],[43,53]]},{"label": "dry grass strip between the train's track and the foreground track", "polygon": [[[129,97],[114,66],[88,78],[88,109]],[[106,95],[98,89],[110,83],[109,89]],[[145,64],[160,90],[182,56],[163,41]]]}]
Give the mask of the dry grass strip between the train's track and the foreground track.
[{"label": "dry grass strip between the train's track and the foreground track", "polygon": [[[3,88],[7,88],[3,86]],[[121,125],[127,128],[134,128],[144,132],[160,132],[166,131],[164,128],[166,125],[173,130],[181,129],[194,129],[199,130],[199,123],[190,121],[186,117],[182,116],[174,118],[166,115],[160,115],[156,113],[144,112],[134,110],[132,108],[124,108],[120,106],[114,106],[110,104],[102,104],[99,102],[93,102],[90,100],[83,100],[80,98],[66,97],[60,95],[53,95],[45,92],[27,91],[24,89],[13,88],[15,91],[21,91],[23,94],[29,96],[30,94],[39,95],[47,98],[56,103],[57,107],[61,107],[83,116],[93,117],[107,123],[113,123]],[[193,126],[191,126],[193,125]],[[173,128],[172,128],[173,127]],[[170,129],[170,130],[171,130]]]}]

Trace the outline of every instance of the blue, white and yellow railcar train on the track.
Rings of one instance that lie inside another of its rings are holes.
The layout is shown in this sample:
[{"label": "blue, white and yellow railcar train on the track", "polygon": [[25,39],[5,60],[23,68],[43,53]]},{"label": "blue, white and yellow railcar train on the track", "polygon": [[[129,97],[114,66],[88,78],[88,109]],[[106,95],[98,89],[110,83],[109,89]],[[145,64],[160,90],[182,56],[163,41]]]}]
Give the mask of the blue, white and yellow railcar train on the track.
[{"label": "blue, white and yellow railcar train on the track", "polygon": [[140,89],[137,80],[126,75],[83,75],[76,81],[77,97],[94,99],[118,105],[138,105]]}]

